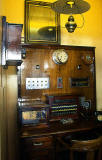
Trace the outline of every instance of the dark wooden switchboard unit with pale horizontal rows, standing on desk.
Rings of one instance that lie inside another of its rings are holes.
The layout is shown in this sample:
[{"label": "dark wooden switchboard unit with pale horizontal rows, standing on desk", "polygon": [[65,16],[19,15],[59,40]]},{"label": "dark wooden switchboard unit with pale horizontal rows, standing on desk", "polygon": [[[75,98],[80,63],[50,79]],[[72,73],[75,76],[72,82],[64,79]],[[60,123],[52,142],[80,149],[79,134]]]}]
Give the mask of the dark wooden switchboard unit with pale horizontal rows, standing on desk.
[{"label": "dark wooden switchboard unit with pale horizontal rows, standing on desk", "polygon": [[50,105],[50,120],[62,118],[78,118],[79,96],[77,95],[46,95]]}]

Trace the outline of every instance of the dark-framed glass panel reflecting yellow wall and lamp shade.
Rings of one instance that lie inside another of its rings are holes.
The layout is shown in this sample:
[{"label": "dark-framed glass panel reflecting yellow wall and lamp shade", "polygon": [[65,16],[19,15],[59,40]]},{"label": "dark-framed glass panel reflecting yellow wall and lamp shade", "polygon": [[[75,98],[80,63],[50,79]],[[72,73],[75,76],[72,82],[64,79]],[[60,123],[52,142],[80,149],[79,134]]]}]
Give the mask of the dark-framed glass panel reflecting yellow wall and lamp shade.
[{"label": "dark-framed glass panel reflecting yellow wall and lamp shade", "polygon": [[59,15],[49,3],[26,1],[25,41],[59,43]]}]

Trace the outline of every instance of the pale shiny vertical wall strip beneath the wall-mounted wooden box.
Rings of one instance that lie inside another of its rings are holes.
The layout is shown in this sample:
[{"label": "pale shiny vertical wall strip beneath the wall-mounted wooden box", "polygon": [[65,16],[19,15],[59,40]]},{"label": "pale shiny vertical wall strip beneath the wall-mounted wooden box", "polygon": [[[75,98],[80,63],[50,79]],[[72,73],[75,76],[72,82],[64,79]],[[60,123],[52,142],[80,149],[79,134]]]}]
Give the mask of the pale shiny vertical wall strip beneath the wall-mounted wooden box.
[{"label": "pale shiny vertical wall strip beneath the wall-mounted wooden box", "polygon": [[17,137],[17,75],[16,67],[7,69],[7,135],[8,160],[18,159]]}]

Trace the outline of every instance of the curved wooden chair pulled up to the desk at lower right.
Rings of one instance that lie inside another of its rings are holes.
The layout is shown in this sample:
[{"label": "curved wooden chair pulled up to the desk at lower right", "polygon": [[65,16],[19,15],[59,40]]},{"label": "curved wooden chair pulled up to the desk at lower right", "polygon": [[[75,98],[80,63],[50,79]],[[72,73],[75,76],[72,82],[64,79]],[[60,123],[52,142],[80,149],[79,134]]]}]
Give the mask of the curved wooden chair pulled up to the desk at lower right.
[{"label": "curved wooden chair pulled up to the desk at lower right", "polygon": [[[95,133],[93,133],[94,135]],[[87,136],[84,138],[86,138],[86,140],[71,140],[70,139],[70,143],[68,143],[68,140],[64,141],[61,137],[57,138],[57,152],[61,151],[61,147],[59,148],[59,146],[63,146],[62,148],[66,148],[66,150],[70,151],[70,160],[74,160],[74,153],[78,152],[78,153],[85,153],[86,154],[86,158],[85,160],[101,160],[102,159],[102,135],[101,136],[97,136],[93,138],[93,135],[89,135],[89,137],[91,138],[90,140],[87,139]],[[80,135],[81,137],[81,135]],[[96,151],[98,151],[97,153],[97,157],[96,155]]]}]

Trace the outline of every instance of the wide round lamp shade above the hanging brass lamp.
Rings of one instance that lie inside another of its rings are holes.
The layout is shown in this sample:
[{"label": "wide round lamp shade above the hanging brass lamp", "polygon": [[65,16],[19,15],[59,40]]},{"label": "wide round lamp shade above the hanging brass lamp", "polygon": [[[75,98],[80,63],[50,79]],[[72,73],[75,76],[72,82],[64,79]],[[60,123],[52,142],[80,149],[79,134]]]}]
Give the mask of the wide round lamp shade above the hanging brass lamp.
[{"label": "wide round lamp shade above the hanging brass lamp", "polygon": [[51,8],[62,14],[81,14],[90,9],[88,2],[83,0],[58,0],[51,4]]}]

